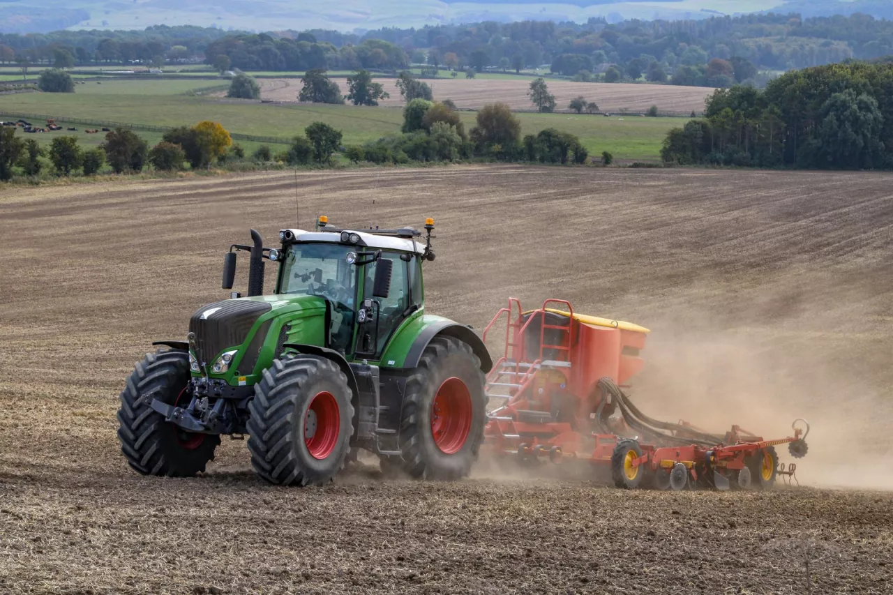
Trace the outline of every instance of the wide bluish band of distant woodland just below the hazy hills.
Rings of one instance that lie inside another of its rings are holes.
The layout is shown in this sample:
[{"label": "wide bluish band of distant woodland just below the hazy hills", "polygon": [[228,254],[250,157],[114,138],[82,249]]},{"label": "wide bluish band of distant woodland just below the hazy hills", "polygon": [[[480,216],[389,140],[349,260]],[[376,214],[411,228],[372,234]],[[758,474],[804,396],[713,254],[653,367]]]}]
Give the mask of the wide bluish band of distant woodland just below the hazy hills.
[{"label": "wide bluish band of distant woodland just below the hazy hills", "polygon": [[[479,72],[548,64],[564,76],[599,71],[607,79],[619,74],[720,87],[757,80],[759,69],[789,70],[891,53],[893,21],[858,13],[812,19],[768,13],[688,21],[484,21],[374,29],[363,35],[167,26],[0,35],[0,62],[5,63],[22,59],[58,65],[62,55],[80,65],[159,60],[216,64],[225,56],[242,70],[400,70],[427,63]],[[711,66],[714,60],[722,62]]]}]

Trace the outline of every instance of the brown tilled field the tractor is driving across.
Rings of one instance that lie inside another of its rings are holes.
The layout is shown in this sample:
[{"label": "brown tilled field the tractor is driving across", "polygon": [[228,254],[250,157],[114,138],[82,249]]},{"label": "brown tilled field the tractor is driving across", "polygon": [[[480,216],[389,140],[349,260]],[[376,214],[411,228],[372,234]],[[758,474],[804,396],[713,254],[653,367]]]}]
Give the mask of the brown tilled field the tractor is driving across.
[{"label": "brown tilled field the tractor is driving across", "polygon": [[[221,254],[249,226],[271,243],[295,224],[296,187],[305,226],[435,217],[430,311],[480,328],[509,295],[561,297],[650,327],[633,398],[655,416],[772,437],[806,417],[807,485],[409,482],[370,460],[293,490],[230,440],[204,477],[130,472],[130,367],[222,297]],[[891,188],[488,166],[0,189],[0,593],[794,594],[804,556],[815,593],[893,592]]]}]

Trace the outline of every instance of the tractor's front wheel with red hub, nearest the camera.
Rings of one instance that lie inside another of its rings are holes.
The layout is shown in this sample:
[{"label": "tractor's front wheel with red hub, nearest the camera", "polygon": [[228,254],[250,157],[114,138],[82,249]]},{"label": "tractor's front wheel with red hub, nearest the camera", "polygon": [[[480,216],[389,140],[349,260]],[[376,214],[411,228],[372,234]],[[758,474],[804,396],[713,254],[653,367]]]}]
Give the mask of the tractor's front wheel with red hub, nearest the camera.
[{"label": "tractor's front wheel with red hub, nearest the camera", "polygon": [[271,483],[320,485],[344,468],[354,433],[347,377],[325,357],[273,360],[248,406],[248,450]]}]

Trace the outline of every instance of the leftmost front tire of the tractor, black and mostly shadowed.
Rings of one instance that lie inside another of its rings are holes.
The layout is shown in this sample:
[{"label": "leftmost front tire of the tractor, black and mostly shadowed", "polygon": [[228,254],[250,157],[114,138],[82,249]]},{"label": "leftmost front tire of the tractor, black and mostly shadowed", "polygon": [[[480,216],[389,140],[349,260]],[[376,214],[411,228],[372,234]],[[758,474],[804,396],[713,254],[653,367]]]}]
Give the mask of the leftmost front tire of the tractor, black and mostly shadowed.
[{"label": "leftmost front tire of the tractor, black and mostly shadowed", "polygon": [[189,356],[159,349],[146,354],[121,392],[118,438],[131,468],[144,475],[189,477],[203,472],[214,458],[220,436],[186,432],[164,421],[149,406],[157,398],[167,405],[187,406]]}]

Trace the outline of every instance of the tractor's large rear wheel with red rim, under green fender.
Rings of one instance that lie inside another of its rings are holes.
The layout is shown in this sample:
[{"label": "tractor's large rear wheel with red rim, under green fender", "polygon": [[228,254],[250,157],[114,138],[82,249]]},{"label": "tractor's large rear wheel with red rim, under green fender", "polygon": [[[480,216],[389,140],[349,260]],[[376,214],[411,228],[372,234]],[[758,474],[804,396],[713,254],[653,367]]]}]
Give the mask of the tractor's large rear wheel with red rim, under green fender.
[{"label": "tractor's large rear wheel with red rim, under green fender", "polygon": [[465,477],[477,460],[486,419],[478,356],[459,339],[431,339],[406,381],[400,423],[404,471],[426,479]]}]

